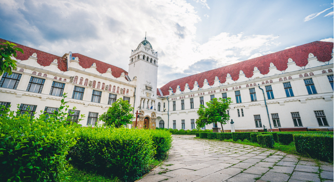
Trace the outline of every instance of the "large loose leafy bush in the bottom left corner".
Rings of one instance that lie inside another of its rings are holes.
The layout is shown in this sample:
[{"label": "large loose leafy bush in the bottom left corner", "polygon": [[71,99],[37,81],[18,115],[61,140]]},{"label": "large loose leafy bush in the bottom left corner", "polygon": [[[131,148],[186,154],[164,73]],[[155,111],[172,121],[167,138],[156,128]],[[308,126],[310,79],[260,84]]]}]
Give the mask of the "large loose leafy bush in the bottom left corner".
[{"label": "large loose leafy bush in the bottom left corner", "polygon": [[67,122],[64,98],[59,111],[39,118],[20,115],[19,110],[0,111],[0,181],[68,179],[66,155],[76,144],[75,128],[81,125]]}]

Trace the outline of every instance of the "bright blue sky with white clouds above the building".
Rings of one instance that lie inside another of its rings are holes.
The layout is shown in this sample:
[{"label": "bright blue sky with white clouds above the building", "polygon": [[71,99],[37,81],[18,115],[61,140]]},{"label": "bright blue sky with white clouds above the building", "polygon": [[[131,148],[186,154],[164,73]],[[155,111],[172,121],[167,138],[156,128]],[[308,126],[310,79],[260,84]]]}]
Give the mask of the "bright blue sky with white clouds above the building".
[{"label": "bright blue sky with white clouds above the building", "polygon": [[[314,41],[333,42],[333,1],[0,1],[0,38],[128,70],[147,32],[158,88],[171,80]],[[217,75],[219,76],[219,75]]]}]

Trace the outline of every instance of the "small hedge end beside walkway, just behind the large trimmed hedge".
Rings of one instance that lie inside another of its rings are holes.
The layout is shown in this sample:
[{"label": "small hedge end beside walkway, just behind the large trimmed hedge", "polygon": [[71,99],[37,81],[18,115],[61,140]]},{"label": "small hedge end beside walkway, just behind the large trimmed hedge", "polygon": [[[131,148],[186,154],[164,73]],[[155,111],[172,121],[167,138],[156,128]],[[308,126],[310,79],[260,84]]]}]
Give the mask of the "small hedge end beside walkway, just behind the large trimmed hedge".
[{"label": "small hedge end beside walkway, just behind the large trimmed hedge", "polygon": [[164,130],[151,130],[153,147],[156,149],[154,158],[161,160],[168,156],[168,151],[172,147],[172,134]]}]

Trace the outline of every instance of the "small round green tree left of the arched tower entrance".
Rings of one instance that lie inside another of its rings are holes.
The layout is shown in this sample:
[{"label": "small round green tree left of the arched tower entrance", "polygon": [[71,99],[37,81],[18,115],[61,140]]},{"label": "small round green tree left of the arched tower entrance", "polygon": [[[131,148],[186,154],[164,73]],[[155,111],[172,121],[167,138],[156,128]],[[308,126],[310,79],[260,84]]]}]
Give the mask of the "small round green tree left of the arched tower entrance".
[{"label": "small round green tree left of the arched tower entrance", "polygon": [[134,108],[128,101],[119,98],[112,104],[112,107],[109,107],[107,112],[100,116],[99,120],[102,120],[106,126],[119,128],[132,123],[131,119],[135,118],[131,113],[132,111],[134,111]]}]

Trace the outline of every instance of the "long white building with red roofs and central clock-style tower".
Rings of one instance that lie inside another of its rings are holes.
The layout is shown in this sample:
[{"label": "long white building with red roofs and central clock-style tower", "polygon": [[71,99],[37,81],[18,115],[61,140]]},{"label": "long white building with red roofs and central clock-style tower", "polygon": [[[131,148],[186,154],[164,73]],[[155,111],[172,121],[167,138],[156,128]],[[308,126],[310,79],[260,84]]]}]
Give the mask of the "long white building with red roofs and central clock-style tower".
[{"label": "long white building with red roofs and central clock-style tower", "polygon": [[86,116],[80,124],[94,125],[121,97],[140,113],[133,127],[188,130],[196,127],[200,104],[231,97],[229,114],[237,131],[263,125],[333,128],[333,43],[305,44],[172,80],[161,88],[158,52],[146,38],[131,51],[128,72],[81,54],[60,57],[18,47],[24,54],[18,53],[17,70],[10,76],[5,73],[0,81],[0,102],[10,103],[12,110],[18,104],[22,111],[30,105],[38,114],[52,112],[66,92],[70,108],[76,106],[76,114]]}]

